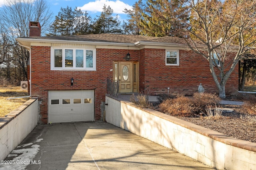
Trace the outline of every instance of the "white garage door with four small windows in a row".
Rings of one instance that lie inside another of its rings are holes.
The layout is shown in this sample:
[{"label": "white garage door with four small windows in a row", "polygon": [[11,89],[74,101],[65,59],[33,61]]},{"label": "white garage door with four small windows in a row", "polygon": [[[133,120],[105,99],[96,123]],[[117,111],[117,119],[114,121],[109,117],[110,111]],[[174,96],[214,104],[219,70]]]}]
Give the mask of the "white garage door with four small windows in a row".
[{"label": "white garage door with four small windows in a row", "polygon": [[93,90],[50,90],[48,123],[94,121]]}]

